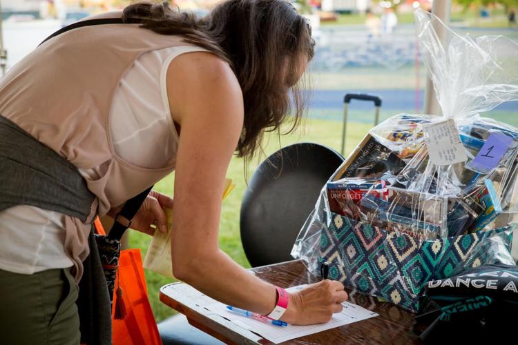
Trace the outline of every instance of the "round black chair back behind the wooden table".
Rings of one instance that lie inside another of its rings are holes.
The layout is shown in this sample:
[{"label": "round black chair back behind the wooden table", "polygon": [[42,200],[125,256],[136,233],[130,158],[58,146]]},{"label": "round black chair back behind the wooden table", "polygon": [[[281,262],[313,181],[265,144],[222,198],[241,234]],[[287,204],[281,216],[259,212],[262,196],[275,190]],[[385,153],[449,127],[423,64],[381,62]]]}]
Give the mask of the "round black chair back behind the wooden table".
[{"label": "round black chair back behind the wooden table", "polygon": [[260,164],[241,206],[241,240],[253,267],[285,262],[320,190],[344,158],[332,148],[300,143]]}]

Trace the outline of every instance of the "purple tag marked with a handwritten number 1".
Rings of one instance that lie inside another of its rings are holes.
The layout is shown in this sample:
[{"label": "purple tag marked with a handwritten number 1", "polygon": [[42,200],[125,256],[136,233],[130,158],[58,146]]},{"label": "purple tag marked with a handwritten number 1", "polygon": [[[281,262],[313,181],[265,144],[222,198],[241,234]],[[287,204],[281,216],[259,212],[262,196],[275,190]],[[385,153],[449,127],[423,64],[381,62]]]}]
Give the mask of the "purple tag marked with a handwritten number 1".
[{"label": "purple tag marked with a handwritten number 1", "polygon": [[502,132],[492,132],[468,167],[487,174],[497,167],[511,143],[511,137]]}]

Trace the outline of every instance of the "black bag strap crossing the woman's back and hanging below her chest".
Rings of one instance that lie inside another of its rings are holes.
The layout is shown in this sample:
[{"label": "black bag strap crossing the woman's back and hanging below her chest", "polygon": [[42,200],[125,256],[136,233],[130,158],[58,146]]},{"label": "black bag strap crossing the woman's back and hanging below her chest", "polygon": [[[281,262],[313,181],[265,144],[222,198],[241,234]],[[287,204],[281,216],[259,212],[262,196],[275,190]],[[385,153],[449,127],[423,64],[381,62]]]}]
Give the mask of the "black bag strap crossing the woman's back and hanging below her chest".
[{"label": "black bag strap crossing the woman's back and hanging below her chest", "polygon": [[[139,24],[142,23],[142,19],[127,19],[126,21],[122,21],[121,18],[101,18],[101,19],[88,19],[86,21],[77,21],[76,23],[72,23],[69,26],[65,26],[64,28],[61,28],[51,34],[49,37],[44,39],[43,42],[39,43],[40,45],[52,37],[56,37],[58,34],[62,34],[64,32],[67,32],[69,30],[77,29],[77,28],[83,28],[84,26],[94,26],[94,25],[104,25],[104,24]],[[110,233],[108,233],[109,239],[118,239],[120,240],[122,238],[122,235],[124,235],[124,232],[127,228],[131,226],[131,219],[135,217],[137,214],[140,206],[146,199],[147,195],[151,191],[151,188],[153,186],[149,187],[148,189],[144,190],[142,193],[137,195],[136,197],[133,197],[126,201],[124,206],[122,206],[122,210],[120,210],[119,213],[117,213],[117,216],[115,217],[115,222],[113,223],[113,226],[110,230]]]}]

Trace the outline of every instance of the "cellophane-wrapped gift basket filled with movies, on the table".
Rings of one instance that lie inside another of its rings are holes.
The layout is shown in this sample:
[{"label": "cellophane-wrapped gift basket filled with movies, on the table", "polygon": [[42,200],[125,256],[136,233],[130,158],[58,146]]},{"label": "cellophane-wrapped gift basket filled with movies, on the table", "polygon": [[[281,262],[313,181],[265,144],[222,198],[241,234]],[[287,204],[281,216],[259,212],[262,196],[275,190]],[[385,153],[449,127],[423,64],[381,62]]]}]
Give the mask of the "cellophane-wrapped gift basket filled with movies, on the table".
[{"label": "cellophane-wrapped gift basket filled with movies, on the table", "polygon": [[517,44],[415,16],[443,115],[372,128],[323,187],[291,252],[311,273],[326,262],[330,279],[413,312],[431,280],[514,265],[518,210],[518,129],[479,115],[518,100]]}]

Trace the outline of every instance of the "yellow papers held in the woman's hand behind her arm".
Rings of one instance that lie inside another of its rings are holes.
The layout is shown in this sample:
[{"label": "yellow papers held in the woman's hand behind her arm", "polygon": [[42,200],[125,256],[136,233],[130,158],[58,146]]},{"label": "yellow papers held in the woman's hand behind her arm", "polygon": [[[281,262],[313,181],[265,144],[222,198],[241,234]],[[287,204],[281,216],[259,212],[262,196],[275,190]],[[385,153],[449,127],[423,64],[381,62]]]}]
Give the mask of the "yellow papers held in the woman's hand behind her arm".
[{"label": "yellow papers held in the woman's hand behind her arm", "polygon": [[[236,185],[231,179],[225,179],[223,199],[230,194]],[[171,262],[171,230],[173,227],[173,210],[164,208],[167,217],[167,233],[160,233],[155,230],[155,235],[151,238],[146,257],[144,258],[144,268],[153,270],[156,273],[173,278],[173,262]]]}]

